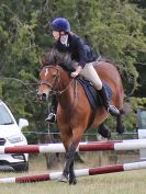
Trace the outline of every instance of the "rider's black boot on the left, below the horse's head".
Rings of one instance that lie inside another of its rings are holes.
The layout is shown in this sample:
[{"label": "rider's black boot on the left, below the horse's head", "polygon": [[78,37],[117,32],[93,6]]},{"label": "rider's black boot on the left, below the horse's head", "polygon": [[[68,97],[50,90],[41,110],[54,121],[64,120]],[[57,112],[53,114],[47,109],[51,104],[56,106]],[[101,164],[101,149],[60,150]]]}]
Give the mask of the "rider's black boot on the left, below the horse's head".
[{"label": "rider's black boot on the left, below the horse's head", "polygon": [[47,116],[47,118],[45,119],[48,123],[55,123],[56,122],[56,111],[57,111],[57,99],[56,95],[52,95],[52,109],[50,112]]}]

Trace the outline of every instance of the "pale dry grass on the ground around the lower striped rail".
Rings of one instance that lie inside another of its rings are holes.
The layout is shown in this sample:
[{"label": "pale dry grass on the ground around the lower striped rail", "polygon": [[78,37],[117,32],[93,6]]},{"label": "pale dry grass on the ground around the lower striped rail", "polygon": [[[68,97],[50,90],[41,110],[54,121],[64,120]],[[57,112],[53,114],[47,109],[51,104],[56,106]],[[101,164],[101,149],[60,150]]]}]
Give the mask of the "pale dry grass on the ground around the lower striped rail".
[{"label": "pale dry grass on the ground around the lower striped rail", "polygon": [[[59,167],[59,171],[61,167]],[[58,170],[57,170],[58,171]],[[0,173],[0,178],[46,173],[43,156],[30,160],[29,173]],[[1,194],[146,194],[146,170],[78,178],[77,185],[57,181],[12,184],[1,183]]]}]

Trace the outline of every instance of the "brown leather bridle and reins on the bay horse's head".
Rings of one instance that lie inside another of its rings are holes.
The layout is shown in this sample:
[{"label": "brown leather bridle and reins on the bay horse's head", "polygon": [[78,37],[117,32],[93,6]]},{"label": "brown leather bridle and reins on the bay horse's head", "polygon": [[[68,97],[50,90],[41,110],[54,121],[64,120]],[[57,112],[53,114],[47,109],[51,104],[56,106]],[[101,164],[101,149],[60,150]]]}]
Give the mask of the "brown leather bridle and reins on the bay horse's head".
[{"label": "brown leather bridle and reins on the bay horse's head", "polygon": [[54,77],[54,82],[53,83],[49,83],[48,81],[46,81],[46,80],[41,80],[41,82],[40,82],[40,85],[41,84],[45,84],[45,85],[47,85],[48,88],[50,88],[52,89],[52,94],[59,94],[59,95],[61,95],[64,92],[66,92],[67,90],[68,90],[68,88],[70,87],[70,84],[74,82],[74,78],[70,80],[70,82],[68,83],[68,85],[65,88],[65,89],[63,89],[63,90],[56,90],[55,89],[55,85],[56,85],[56,82],[57,82],[57,84],[59,85],[59,81],[60,81],[60,72],[59,72],[59,67],[55,67],[55,66],[45,66],[44,67],[45,69],[47,68],[47,69],[50,69],[50,68],[53,68],[53,69],[55,69],[55,70],[57,70],[57,73],[56,73],[56,76]]}]

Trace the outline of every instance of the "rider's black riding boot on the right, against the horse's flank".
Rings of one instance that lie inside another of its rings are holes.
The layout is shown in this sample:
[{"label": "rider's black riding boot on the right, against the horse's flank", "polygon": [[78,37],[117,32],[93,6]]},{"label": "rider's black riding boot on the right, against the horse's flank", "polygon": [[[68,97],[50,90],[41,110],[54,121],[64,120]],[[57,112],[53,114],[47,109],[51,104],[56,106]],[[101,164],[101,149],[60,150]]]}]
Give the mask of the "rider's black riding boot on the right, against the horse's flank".
[{"label": "rider's black riding boot on the right, against the horse's flank", "polygon": [[102,89],[98,92],[100,95],[100,100],[108,113],[110,113],[112,116],[117,116],[120,114],[120,111],[114,105],[110,104],[104,85],[102,85]]}]

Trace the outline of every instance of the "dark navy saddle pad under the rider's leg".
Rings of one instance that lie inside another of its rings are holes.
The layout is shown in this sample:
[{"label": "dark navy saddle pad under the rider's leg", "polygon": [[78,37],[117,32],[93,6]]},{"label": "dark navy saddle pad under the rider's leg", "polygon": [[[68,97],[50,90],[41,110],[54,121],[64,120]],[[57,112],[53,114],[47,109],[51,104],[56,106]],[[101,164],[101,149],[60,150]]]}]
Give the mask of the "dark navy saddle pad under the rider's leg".
[{"label": "dark navy saddle pad under the rider's leg", "polygon": [[[77,80],[83,87],[86,95],[87,95],[87,98],[90,102],[90,105],[91,105],[92,110],[94,112],[97,112],[98,106],[102,105],[102,103],[100,101],[100,98],[99,98],[99,94],[98,94],[98,91],[94,89],[93,84],[90,81],[88,81],[88,80],[86,80],[81,77],[78,77]],[[105,81],[102,81],[102,83],[105,88],[108,99],[110,101],[112,99],[112,90]]]}]

